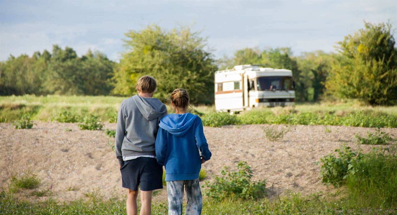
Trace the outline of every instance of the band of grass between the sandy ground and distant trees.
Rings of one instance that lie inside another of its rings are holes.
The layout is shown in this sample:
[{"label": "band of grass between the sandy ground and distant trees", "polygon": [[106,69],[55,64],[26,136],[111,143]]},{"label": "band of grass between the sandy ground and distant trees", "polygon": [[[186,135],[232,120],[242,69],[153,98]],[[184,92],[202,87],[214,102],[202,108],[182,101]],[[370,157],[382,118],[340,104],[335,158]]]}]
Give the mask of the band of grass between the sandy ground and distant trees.
[{"label": "band of grass between the sandy ground and distant trees", "polygon": [[[102,122],[116,122],[121,101],[127,97],[114,96],[1,96],[0,122],[14,122],[23,113],[30,114],[33,120],[50,121],[56,116],[84,117],[98,116]],[[172,113],[170,105],[167,105]],[[67,111],[70,116],[62,115]],[[218,116],[215,107],[196,106],[191,112],[199,114],[206,126],[227,124],[303,124],[338,125],[360,127],[397,128],[397,106],[368,106],[356,100],[339,103],[303,103],[294,107],[255,108],[236,116]],[[61,114],[61,115],[60,115]]]}]

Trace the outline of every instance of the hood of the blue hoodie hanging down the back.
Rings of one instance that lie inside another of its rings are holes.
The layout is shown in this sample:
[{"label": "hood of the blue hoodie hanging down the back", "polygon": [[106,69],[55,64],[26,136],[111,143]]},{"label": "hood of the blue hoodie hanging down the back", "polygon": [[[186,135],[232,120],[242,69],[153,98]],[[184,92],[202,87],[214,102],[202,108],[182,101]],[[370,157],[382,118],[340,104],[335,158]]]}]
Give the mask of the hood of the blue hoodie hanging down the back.
[{"label": "hood of the blue hoodie hanging down the back", "polygon": [[197,117],[191,113],[168,114],[161,119],[159,126],[170,134],[181,137],[189,131]]}]

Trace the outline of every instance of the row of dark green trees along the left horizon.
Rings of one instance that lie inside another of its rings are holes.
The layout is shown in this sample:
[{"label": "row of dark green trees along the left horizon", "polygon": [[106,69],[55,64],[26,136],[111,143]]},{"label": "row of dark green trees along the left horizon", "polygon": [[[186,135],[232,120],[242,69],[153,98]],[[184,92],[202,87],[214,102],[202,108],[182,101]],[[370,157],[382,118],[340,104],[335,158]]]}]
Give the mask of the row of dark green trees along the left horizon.
[{"label": "row of dark green trees along the left horizon", "polygon": [[79,58],[73,48],[53,46],[32,57],[0,62],[0,95],[109,95],[114,62],[100,52]]}]

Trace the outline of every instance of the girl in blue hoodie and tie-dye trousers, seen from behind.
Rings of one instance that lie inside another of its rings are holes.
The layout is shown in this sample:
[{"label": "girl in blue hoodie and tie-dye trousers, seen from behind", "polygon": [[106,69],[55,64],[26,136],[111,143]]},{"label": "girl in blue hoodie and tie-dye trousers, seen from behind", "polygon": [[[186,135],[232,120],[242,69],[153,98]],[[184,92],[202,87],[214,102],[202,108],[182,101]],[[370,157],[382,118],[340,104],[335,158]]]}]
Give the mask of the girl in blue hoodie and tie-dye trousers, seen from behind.
[{"label": "girl in blue hoodie and tie-dye trousers, seen from behind", "polygon": [[175,89],[170,100],[175,114],[162,118],[155,143],[157,162],[166,169],[168,214],[182,214],[183,187],[187,196],[185,213],[201,214],[198,174],[201,164],[211,158],[211,152],[200,117],[187,113],[187,91]]}]

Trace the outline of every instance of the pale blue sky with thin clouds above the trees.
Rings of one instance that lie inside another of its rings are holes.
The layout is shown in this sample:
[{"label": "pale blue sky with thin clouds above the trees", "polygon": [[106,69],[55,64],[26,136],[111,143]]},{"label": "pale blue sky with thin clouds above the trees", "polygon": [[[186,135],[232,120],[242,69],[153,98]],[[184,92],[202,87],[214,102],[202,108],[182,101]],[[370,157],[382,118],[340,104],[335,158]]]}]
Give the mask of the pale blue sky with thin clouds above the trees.
[{"label": "pale blue sky with thin clouds above the trees", "polygon": [[351,1],[17,1],[0,0],[0,61],[52,45],[79,56],[98,50],[118,61],[129,30],[152,23],[164,29],[193,26],[216,58],[236,50],[291,47],[294,55],[335,51],[337,41],[387,22],[396,39],[397,0]]}]

